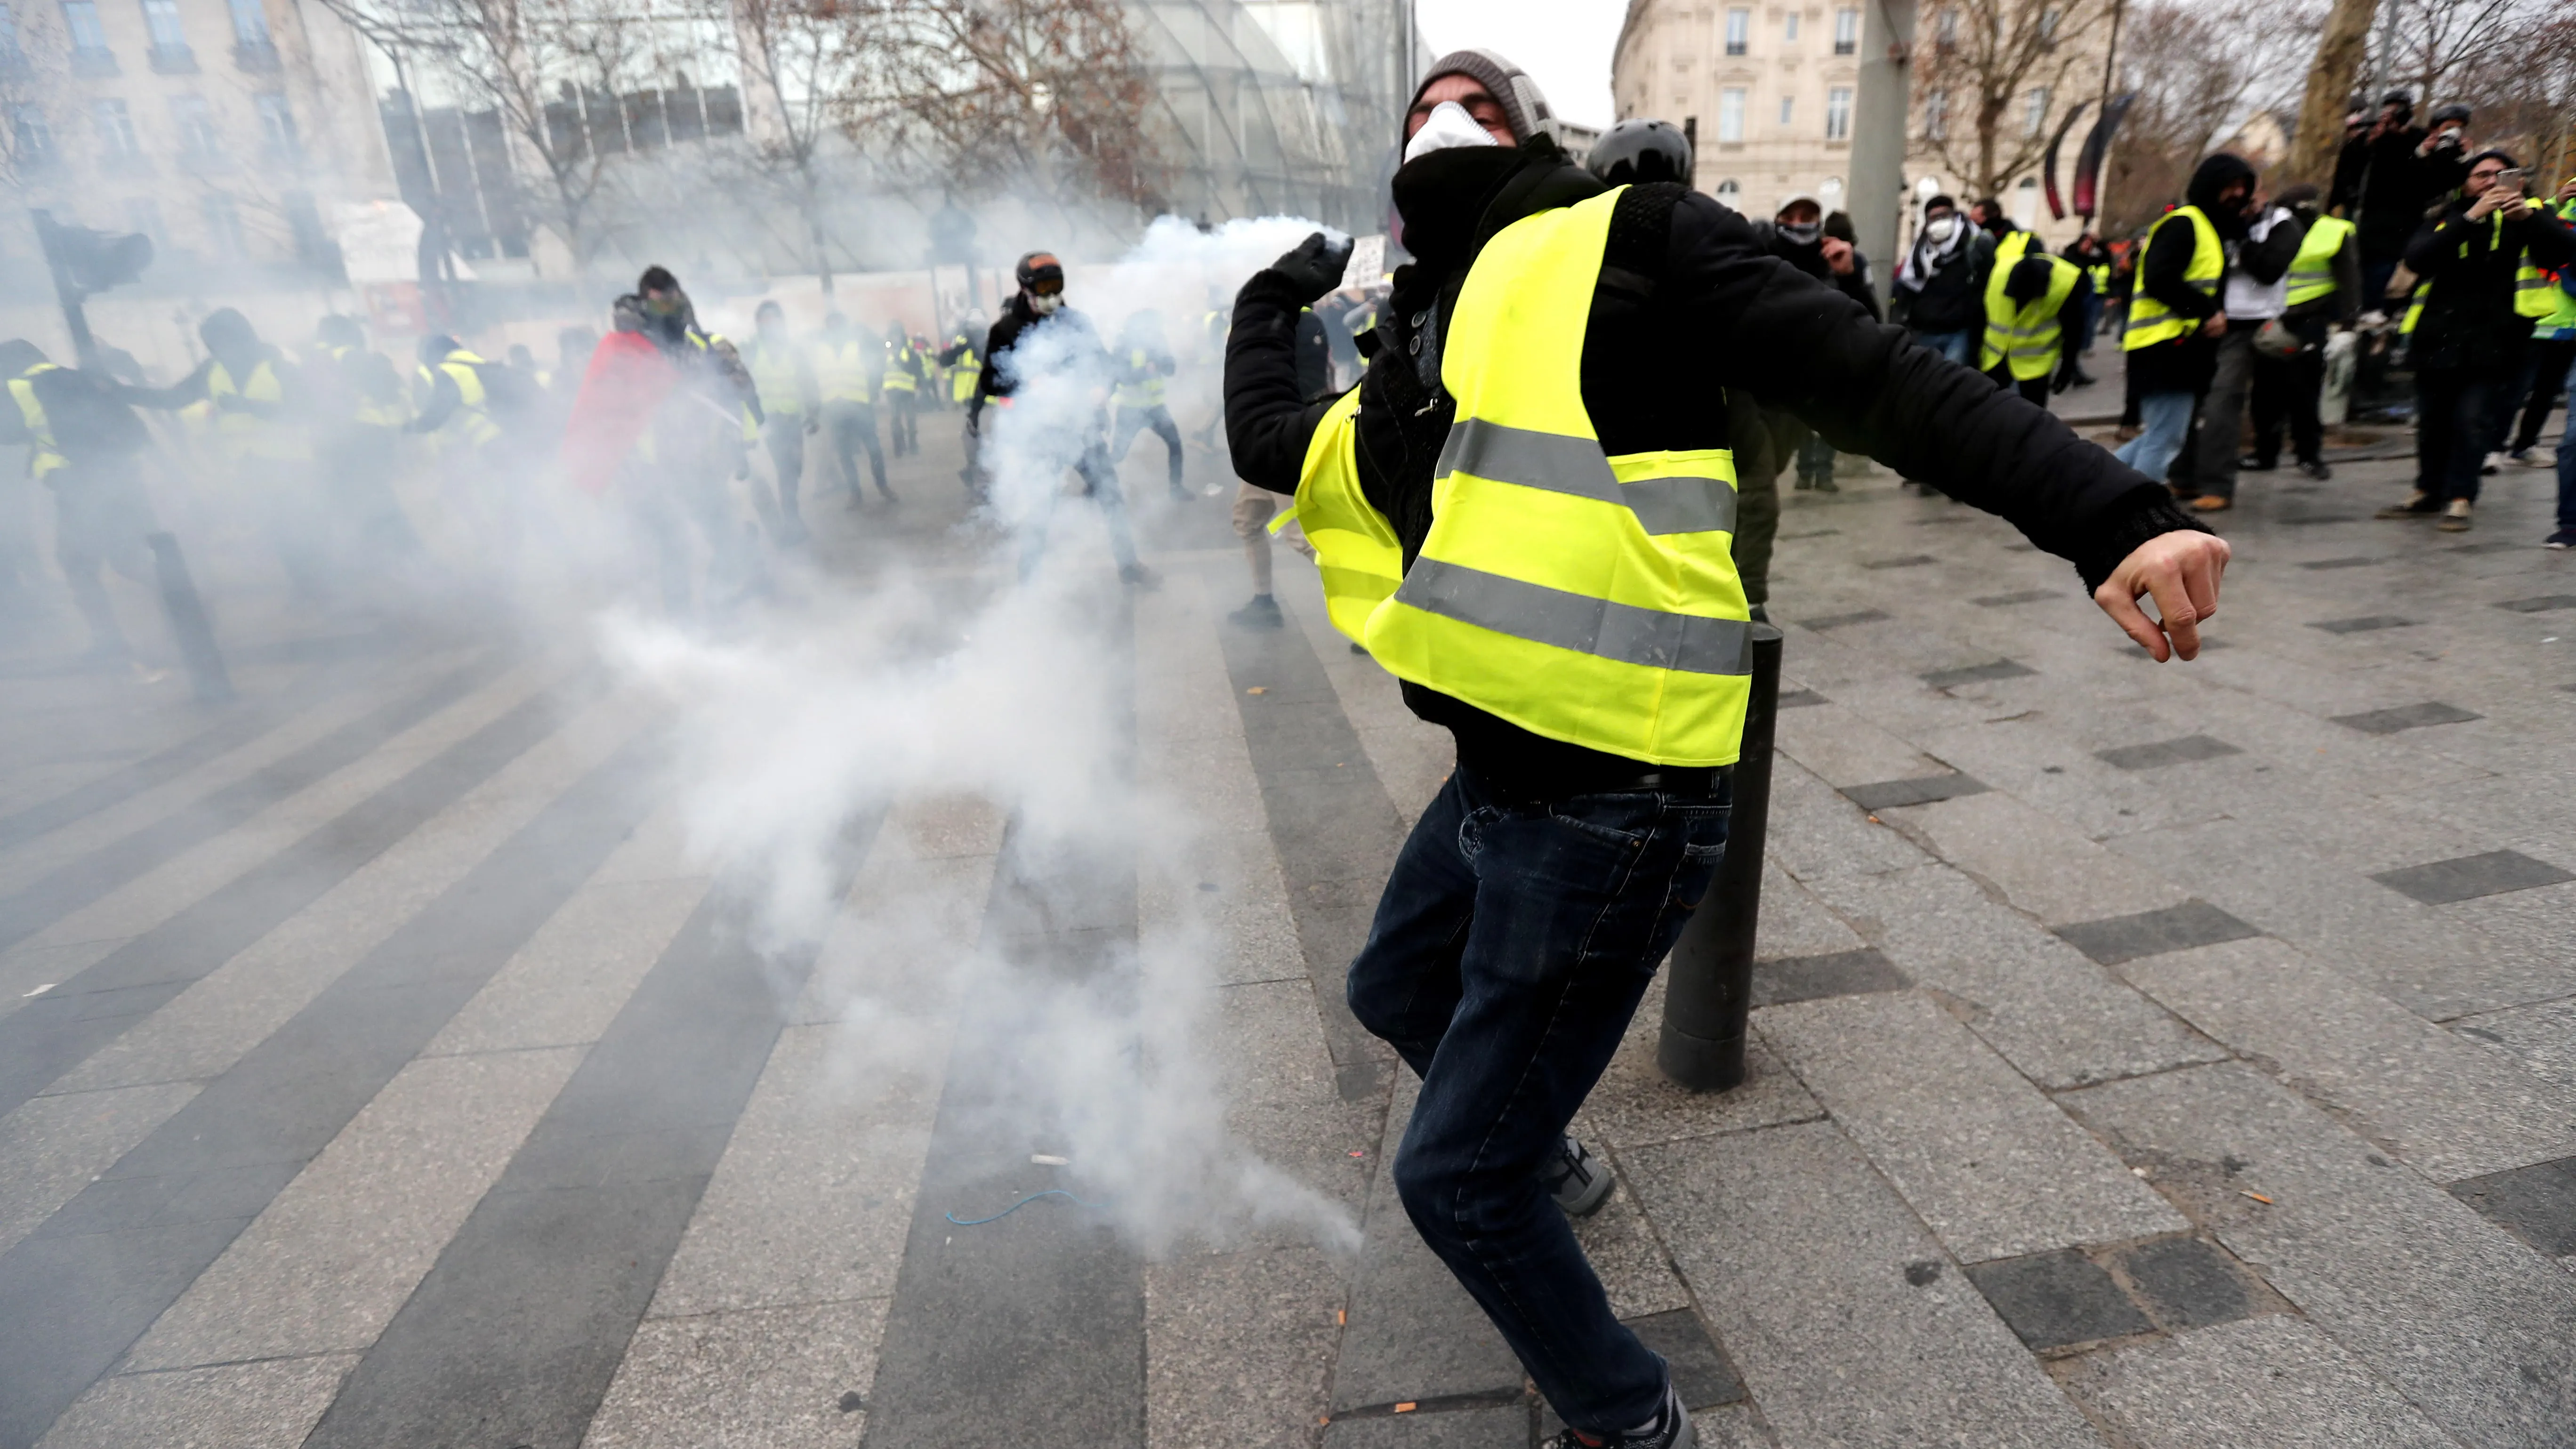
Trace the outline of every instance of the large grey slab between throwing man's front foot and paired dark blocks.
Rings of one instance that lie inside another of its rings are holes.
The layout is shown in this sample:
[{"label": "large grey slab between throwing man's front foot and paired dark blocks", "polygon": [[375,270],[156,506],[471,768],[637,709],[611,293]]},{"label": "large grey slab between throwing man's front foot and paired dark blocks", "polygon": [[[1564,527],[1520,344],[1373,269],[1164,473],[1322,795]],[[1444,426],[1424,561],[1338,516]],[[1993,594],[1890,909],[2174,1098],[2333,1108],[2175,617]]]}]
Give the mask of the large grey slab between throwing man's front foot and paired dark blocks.
[{"label": "large grey slab between throwing man's front foot and paired dark blocks", "polygon": [[1780,1444],[2097,1444],[1834,1124],[1636,1158],[1646,1209]]}]

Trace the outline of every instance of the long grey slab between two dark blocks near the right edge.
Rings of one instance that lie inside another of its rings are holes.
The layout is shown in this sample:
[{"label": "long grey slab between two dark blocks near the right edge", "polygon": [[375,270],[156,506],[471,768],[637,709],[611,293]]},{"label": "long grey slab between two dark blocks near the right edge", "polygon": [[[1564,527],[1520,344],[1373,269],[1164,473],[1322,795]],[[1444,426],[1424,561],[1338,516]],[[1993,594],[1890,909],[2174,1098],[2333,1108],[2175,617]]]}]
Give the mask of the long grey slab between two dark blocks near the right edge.
[{"label": "long grey slab between two dark blocks near the right edge", "polygon": [[2434,1021],[2576,995],[2563,951],[2463,928],[2249,822],[2148,830],[2115,848]]}]

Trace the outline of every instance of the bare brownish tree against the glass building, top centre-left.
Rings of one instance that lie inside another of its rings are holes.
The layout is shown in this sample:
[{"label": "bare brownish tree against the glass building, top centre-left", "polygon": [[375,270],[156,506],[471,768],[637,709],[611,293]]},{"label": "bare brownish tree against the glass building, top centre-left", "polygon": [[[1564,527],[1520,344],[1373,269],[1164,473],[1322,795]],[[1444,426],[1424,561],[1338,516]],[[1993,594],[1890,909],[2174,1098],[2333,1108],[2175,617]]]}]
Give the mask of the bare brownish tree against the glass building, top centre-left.
[{"label": "bare brownish tree against the glass building, top centre-left", "polygon": [[863,0],[878,52],[842,124],[958,188],[1162,206],[1154,83],[1118,0]]}]

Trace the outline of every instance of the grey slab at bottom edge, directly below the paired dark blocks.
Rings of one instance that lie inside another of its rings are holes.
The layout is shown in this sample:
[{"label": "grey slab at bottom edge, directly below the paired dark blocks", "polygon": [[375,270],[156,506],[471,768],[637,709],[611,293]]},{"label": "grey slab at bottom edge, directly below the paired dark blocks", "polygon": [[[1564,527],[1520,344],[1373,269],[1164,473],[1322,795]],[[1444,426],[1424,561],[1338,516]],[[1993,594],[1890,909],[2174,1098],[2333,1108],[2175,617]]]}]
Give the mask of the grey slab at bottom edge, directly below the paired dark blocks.
[{"label": "grey slab at bottom edge, directly below the paired dark blocks", "polygon": [[2313,1323],[2251,1318],[2076,1361],[2071,1392],[2138,1449],[2455,1449]]}]

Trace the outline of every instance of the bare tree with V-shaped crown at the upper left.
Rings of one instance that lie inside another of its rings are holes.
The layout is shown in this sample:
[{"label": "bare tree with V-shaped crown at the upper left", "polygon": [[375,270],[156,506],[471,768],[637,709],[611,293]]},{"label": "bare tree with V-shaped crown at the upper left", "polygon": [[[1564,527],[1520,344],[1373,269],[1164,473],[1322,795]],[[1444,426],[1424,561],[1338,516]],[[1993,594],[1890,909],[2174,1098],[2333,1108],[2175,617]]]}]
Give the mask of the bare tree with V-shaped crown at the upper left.
[{"label": "bare tree with V-shaped crown at the upper left", "polygon": [[626,150],[621,93],[657,59],[639,10],[585,0],[322,0],[386,54],[487,111],[541,173],[536,211],[590,268],[608,165]]}]

